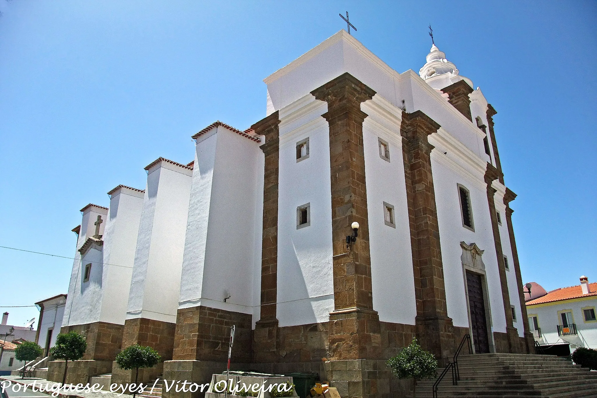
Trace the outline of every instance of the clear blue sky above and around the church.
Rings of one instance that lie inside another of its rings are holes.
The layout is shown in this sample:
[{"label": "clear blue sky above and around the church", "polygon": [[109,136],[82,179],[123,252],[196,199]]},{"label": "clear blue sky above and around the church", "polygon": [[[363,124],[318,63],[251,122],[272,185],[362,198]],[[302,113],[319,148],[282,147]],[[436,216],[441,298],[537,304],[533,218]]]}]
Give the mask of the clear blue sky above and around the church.
[{"label": "clear blue sky above and around the church", "polygon": [[[72,257],[79,209],[143,188],[190,136],[265,116],[262,79],[346,27],[398,72],[436,44],[497,110],[524,282],[597,280],[597,2],[0,0],[0,245]],[[0,248],[0,306],[66,293],[72,261]],[[123,292],[126,294],[126,292]],[[35,308],[0,308],[23,325]]]}]

